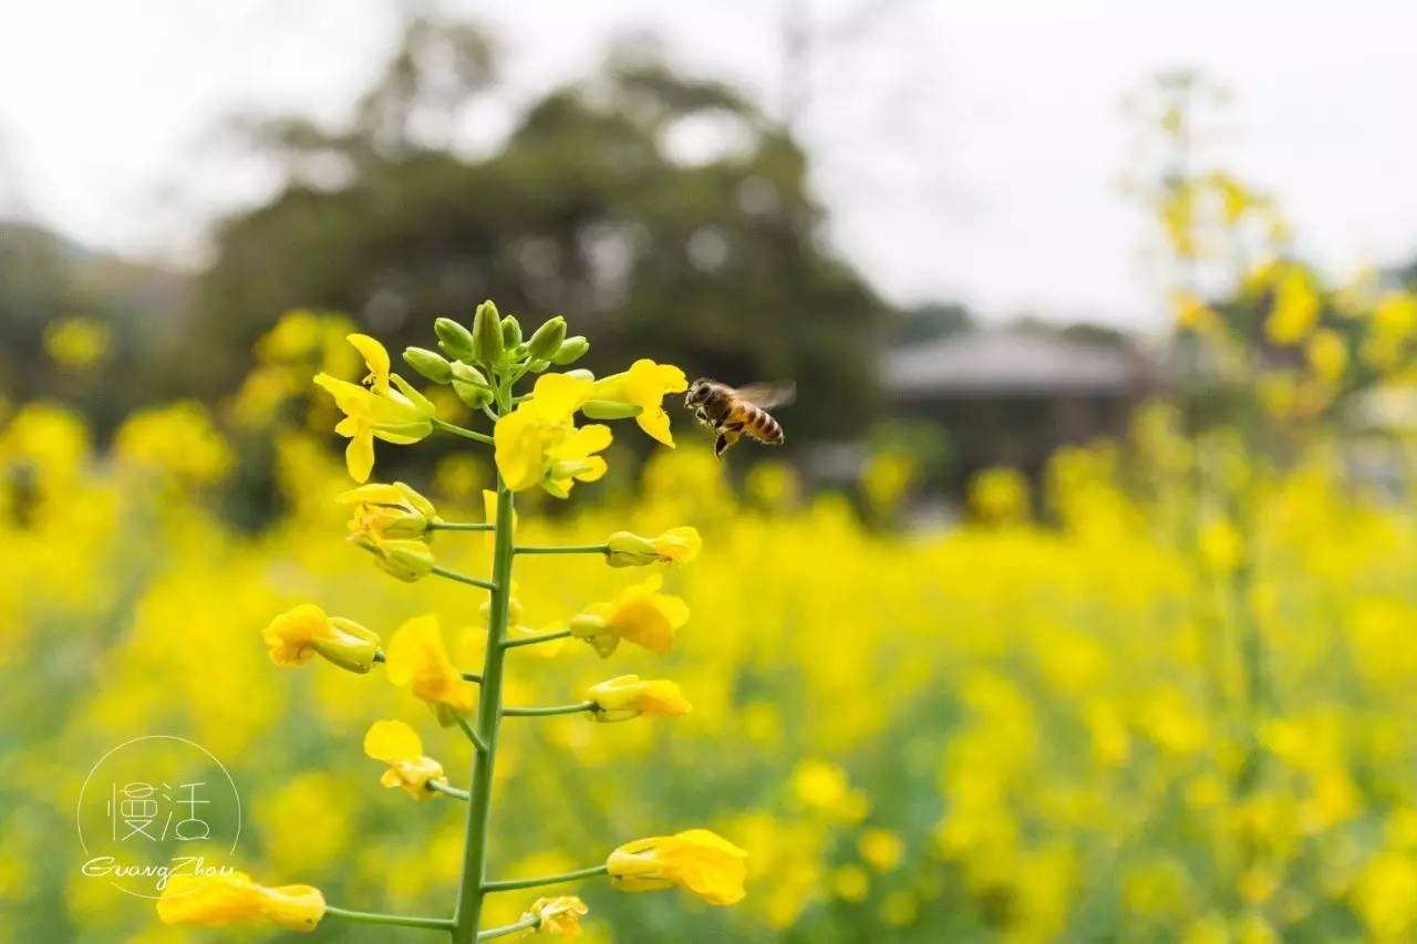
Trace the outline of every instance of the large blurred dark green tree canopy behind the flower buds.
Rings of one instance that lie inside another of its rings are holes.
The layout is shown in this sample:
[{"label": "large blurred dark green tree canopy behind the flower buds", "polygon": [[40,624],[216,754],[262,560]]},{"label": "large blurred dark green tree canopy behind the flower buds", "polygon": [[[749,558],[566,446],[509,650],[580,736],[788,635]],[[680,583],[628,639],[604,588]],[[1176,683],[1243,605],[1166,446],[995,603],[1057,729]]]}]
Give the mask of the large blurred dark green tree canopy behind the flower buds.
[{"label": "large blurred dark green tree canopy behind the flower buds", "polygon": [[[884,306],[825,247],[782,128],[621,51],[530,103],[493,153],[456,156],[495,84],[478,30],[414,20],[347,128],[248,123],[286,186],[220,225],[193,325],[211,354],[183,388],[230,390],[292,308],[344,310],[397,350],[493,298],[531,323],[570,318],[597,373],[653,352],[727,383],[795,378],[789,439],[871,417]],[[694,142],[707,153],[686,156]]]}]

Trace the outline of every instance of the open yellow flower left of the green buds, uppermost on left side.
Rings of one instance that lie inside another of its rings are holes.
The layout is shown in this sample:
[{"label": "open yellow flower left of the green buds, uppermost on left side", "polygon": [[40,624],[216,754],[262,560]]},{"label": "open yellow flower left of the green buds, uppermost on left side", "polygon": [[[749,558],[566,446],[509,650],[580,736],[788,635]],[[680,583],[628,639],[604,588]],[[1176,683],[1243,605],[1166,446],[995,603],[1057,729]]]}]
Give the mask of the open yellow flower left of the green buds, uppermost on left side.
[{"label": "open yellow flower left of the green buds, uppermost on left side", "polygon": [[334,432],[349,438],[344,462],[354,481],[364,482],[374,469],[374,439],[395,445],[418,442],[434,431],[436,410],[408,381],[388,371],[388,352],[383,344],[368,335],[350,335],[349,342],[364,356],[368,388],[323,371],[315,376],[315,383],[329,391],[334,405],[344,412]]}]

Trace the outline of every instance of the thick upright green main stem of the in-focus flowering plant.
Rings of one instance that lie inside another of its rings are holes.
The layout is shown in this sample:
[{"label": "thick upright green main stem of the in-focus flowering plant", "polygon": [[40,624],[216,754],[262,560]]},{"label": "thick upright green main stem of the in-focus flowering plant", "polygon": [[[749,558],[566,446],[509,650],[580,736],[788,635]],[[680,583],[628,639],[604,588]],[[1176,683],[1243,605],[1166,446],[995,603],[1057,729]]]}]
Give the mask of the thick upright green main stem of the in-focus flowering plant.
[{"label": "thick upright green main stem of the in-focus flowering plant", "polygon": [[[504,400],[500,395],[499,400]],[[506,405],[503,403],[503,405]],[[473,754],[472,785],[468,792],[468,826],[462,849],[462,880],[453,910],[453,944],[478,940],[482,920],[482,884],[487,872],[487,832],[492,821],[492,771],[497,758],[497,729],[502,724],[502,665],[507,655],[507,614],[512,604],[512,489],[497,476],[497,527],[492,551],[492,604],[487,612],[487,651],[482,665],[478,699],[478,736],[482,750]]]}]

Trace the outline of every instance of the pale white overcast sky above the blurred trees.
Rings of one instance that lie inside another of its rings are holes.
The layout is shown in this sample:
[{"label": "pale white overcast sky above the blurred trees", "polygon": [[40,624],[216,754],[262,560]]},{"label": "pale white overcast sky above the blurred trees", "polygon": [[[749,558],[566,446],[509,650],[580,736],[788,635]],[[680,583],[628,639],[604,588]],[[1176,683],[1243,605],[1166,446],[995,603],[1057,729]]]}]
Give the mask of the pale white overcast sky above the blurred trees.
[{"label": "pale white overcast sky above the blurred trees", "polygon": [[[792,3],[441,7],[492,27],[517,101],[648,30],[676,64],[775,111]],[[1178,65],[1230,89],[1210,156],[1280,198],[1304,251],[1338,272],[1417,252],[1417,4],[795,3],[816,37],[801,123],[816,193],[835,244],[897,302],[1155,326],[1146,224],[1119,193],[1135,140],[1119,103]],[[0,0],[0,213],[136,258],[198,259],[214,214],[271,186],[218,153],[220,119],[340,119],[383,65],[395,13],[384,0]],[[479,111],[463,137],[489,146],[507,113]]]}]

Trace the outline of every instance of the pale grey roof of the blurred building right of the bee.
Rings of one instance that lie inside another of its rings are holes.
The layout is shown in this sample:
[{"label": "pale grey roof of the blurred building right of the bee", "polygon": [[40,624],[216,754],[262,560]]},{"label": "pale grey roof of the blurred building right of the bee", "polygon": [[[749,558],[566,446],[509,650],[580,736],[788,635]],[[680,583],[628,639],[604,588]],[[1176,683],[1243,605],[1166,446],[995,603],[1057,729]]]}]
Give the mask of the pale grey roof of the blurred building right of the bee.
[{"label": "pale grey roof of the blurred building right of the bee", "polygon": [[893,352],[884,384],[904,398],[1125,393],[1145,384],[1149,373],[1145,360],[1128,347],[986,330]]}]

